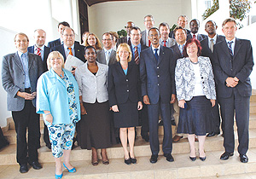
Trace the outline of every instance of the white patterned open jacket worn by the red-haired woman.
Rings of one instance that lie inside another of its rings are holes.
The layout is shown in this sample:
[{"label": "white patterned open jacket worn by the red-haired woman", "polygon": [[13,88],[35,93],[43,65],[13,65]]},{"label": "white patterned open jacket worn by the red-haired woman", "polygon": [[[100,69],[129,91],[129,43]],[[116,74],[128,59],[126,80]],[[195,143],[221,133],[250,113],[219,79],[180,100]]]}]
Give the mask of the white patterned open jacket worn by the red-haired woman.
[{"label": "white patterned open jacket worn by the red-haired woman", "polygon": [[[199,56],[202,90],[209,100],[216,100],[212,64],[208,57]],[[190,101],[195,92],[195,72],[189,57],[177,60],[175,68],[177,101]]]}]

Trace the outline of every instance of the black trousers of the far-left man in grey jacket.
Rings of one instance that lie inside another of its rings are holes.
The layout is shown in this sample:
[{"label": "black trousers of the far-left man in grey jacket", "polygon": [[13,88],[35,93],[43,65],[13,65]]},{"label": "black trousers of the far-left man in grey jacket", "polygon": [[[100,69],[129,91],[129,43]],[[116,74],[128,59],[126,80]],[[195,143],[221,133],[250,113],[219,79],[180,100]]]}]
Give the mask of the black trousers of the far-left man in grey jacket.
[{"label": "black trousers of the far-left man in grey jacket", "polygon": [[[39,115],[32,101],[26,100],[25,107],[19,112],[12,112],[17,135],[17,162],[27,164],[28,161],[38,161]],[[28,144],[26,143],[26,128],[28,128]],[[27,159],[28,156],[28,159]]]}]

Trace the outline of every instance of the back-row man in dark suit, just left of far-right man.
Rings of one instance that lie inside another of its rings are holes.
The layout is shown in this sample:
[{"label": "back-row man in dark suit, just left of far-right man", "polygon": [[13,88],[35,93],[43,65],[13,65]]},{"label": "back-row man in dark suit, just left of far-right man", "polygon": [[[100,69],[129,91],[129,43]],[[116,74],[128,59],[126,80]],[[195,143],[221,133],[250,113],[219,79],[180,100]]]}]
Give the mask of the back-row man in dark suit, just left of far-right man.
[{"label": "back-row man in dark suit, just left of far-right man", "polygon": [[[207,38],[201,41],[201,48],[202,48],[201,55],[209,57],[211,61],[213,58],[213,45],[225,40],[224,36],[218,35],[216,33],[217,28],[218,26],[216,25],[215,21],[208,20],[205,26],[205,30],[208,36]],[[212,107],[211,115],[212,115],[213,131],[207,134],[207,136],[215,136],[220,133],[219,131],[220,117],[219,117],[218,101],[215,101],[215,106]],[[222,127],[222,130],[224,130],[223,127]]]}]

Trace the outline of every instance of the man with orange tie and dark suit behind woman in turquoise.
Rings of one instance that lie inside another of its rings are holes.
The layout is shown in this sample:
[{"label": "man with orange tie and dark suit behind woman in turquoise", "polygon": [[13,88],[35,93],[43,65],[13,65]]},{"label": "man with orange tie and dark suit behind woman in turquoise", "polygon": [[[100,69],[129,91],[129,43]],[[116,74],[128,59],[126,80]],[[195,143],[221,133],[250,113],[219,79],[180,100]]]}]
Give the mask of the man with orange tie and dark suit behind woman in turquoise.
[{"label": "man with orange tie and dark suit behind woman in turquoise", "polygon": [[[79,43],[75,43],[75,33],[73,29],[70,27],[66,27],[62,31],[63,43],[61,45],[57,45],[51,49],[51,51],[59,51],[61,55],[64,57],[64,61],[67,59],[67,55],[73,55],[79,60],[84,61],[84,46]],[[75,72],[75,68],[77,66],[73,66],[73,75]]]}]

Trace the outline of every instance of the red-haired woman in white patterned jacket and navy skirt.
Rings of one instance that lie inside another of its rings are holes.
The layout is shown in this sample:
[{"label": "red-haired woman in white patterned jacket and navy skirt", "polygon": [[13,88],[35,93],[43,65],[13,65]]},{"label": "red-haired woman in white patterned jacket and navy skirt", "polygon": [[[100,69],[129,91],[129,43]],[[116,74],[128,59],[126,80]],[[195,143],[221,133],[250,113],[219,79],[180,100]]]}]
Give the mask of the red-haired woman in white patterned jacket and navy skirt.
[{"label": "red-haired woman in white patterned jacket and navy skirt", "polygon": [[195,161],[195,135],[199,141],[199,159],[204,161],[204,142],[212,131],[209,113],[216,100],[211,61],[201,55],[201,44],[191,38],[185,44],[184,58],[177,60],[175,82],[178,106],[181,107],[177,133],[188,134],[189,159]]}]

